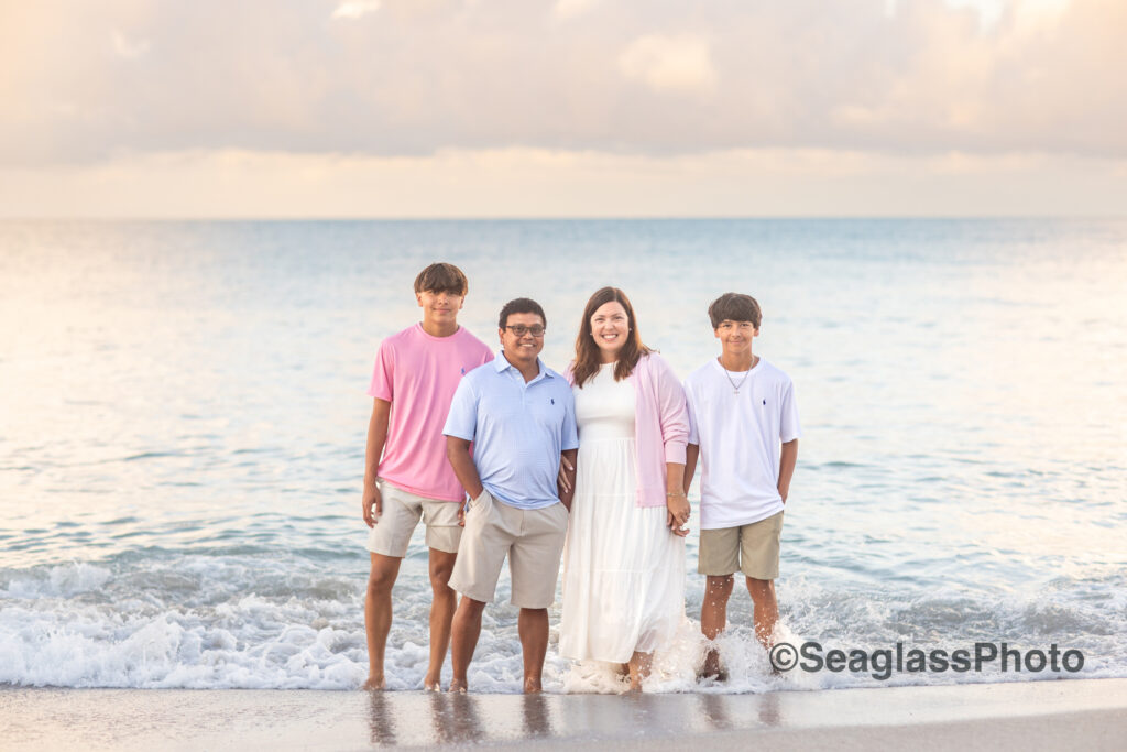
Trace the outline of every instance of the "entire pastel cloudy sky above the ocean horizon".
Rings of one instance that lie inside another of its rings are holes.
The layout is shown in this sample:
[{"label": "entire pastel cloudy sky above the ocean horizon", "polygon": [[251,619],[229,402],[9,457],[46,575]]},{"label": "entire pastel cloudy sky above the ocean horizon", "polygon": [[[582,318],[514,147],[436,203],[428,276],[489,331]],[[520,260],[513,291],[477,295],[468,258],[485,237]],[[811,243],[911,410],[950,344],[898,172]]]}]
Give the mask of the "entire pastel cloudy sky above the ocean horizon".
[{"label": "entire pastel cloudy sky above the ocean horizon", "polygon": [[1121,0],[0,0],[0,216],[1122,215]]}]

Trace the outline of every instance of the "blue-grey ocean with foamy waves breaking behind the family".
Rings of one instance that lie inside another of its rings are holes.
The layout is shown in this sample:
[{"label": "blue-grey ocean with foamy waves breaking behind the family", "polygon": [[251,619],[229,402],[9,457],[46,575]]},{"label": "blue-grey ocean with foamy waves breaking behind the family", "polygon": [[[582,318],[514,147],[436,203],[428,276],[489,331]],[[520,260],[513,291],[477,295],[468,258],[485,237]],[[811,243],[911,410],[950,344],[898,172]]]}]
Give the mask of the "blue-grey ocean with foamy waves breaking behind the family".
[{"label": "blue-grey ocean with foamy waves breaking behind the family", "polygon": [[[796,647],[1084,656],[775,676],[737,587],[731,679],[701,687],[694,530],[651,690],[1127,676],[1127,222],[3,222],[0,683],[358,687],[364,390],[433,260],[468,273],[486,342],[506,300],[543,303],[556,368],[603,284],[682,375],[718,352],[711,299],[760,300],[804,424],[777,583]],[[470,680],[515,692],[507,574],[498,595]],[[420,529],[392,689],[421,685],[428,605]],[[554,647],[545,685],[615,689]]]}]

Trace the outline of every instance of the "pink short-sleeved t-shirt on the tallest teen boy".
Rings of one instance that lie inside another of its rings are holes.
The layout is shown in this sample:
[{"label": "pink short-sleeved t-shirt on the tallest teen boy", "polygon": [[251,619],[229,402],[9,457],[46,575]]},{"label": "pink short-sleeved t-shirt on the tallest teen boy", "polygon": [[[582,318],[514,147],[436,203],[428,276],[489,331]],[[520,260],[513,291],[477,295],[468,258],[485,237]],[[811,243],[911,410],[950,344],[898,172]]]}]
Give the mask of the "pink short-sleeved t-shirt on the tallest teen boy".
[{"label": "pink short-sleeved t-shirt on the tallest teen boy", "polygon": [[462,377],[492,360],[465,327],[434,337],[421,324],[380,343],[370,397],[391,402],[379,477],[397,488],[445,502],[465,498],[446,461],[442,427]]}]

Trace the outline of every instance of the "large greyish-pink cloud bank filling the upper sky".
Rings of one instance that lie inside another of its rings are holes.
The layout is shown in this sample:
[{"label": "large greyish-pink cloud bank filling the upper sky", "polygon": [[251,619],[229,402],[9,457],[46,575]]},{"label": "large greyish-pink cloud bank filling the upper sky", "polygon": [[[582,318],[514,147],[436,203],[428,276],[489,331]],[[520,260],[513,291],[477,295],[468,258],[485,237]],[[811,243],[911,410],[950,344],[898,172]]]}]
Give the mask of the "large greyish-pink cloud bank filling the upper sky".
[{"label": "large greyish-pink cloud bank filling the upper sky", "polygon": [[[5,3],[0,165],[509,148],[1127,157],[1127,3],[996,1],[990,27],[948,0],[383,0],[380,24],[327,23],[327,8],[376,7],[355,0]],[[145,64],[121,64],[131,55]]]}]

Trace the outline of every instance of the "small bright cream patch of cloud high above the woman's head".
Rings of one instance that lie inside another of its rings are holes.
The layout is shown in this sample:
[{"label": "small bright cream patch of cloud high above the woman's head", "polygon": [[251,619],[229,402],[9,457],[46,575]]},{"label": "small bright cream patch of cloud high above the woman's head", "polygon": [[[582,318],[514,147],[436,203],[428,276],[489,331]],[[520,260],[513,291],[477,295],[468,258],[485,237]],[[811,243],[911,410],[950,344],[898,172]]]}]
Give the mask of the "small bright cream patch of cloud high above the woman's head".
[{"label": "small bright cream patch of cloud high above the woman's head", "polygon": [[696,36],[644,36],[619,55],[619,70],[654,91],[708,94],[717,76],[708,41]]}]

